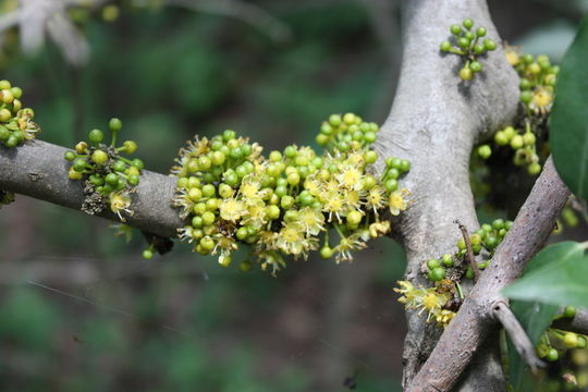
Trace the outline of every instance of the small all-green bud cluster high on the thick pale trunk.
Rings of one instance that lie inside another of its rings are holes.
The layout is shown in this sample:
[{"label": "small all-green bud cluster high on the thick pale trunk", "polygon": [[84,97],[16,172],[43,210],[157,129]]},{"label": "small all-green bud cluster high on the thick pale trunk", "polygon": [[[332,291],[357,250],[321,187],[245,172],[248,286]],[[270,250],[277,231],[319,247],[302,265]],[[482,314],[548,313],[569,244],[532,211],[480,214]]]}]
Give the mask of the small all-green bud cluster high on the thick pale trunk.
[{"label": "small all-green bud cluster high on the thick pale trunk", "polygon": [[[441,42],[441,51],[461,56],[465,64],[460,70],[460,77],[463,81],[470,81],[474,74],[482,70],[483,64],[479,57],[490,50],[497,49],[497,42],[486,37],[486,27],[474,28],[474,21],[466,17],[462,24],[454,24],[450,27],[453,35],[454,45],[445,40]],[[483,39],[482,39],[483,38]],[[480,41],[480,39],[482,39]]]}]

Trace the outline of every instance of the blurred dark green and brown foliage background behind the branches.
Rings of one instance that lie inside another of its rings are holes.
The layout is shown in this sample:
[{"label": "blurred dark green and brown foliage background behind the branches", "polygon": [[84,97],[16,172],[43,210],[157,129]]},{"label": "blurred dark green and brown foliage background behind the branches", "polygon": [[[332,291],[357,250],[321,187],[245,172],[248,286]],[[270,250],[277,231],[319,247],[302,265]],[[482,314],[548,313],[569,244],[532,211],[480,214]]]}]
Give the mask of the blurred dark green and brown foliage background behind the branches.
[{"label": "blurred dark green and brown foliage background behind the branches", "polygon": [[[73,146],[119,117],[147,168],[168,172],[195,134],[234,128],[269,150],[314,145],[333,112],[385,119],[401,61],[399,1],[245,3],[271,23],[231,11],[241,1],[225,12],[170,3],[107,3],[120,5],[118,17],[112,8],[70,10],[90,48],[84,66],[51,41],[25,56],[17,29],[4,34],[0,78],[24,89],[40,138]],[[489,5],[504,39],[555,61],[588,10]],[[109,224],[21,196],[1,210],[0,390],[343,391],[354,375],[358,391],[401,390],[405,321],[392,286],[404,255],[392,241],[353,265],[311,258],[273,279],[222,269],[181,244],[143,260],[140,235],[125,244]]]}]

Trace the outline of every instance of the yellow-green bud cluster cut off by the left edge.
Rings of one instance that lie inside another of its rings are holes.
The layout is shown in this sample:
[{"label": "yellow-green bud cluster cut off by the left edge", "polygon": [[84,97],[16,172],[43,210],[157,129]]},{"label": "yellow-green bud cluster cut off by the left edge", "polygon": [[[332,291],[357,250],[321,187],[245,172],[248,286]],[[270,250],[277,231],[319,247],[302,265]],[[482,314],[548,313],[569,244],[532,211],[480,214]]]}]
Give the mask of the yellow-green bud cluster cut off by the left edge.
[{"label": "yellow-green bud cluster cut off by the left edge", "polygon": [[34,138],[40,132],[33,121],[33,109],[23,108],[22,95],[20,87],[12,87],[9,81],[0,81],[0,145],[9,148]]}]

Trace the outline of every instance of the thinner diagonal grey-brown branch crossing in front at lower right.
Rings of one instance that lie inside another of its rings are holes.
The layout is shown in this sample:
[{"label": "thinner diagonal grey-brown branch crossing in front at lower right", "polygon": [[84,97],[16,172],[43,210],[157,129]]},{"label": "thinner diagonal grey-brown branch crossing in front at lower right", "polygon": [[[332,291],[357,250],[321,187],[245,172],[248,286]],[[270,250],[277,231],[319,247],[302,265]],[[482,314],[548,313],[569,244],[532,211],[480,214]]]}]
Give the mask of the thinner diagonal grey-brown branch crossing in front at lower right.
[{"label": "thinner diagonal grey-brown branch crossing in front at lower right", "polygon": [[449,391],[453,387],[497,323],[492,309],[499,301],[505,301],[500,290],[514,281],[527,261],[543,246],[568,196],[569,191],[549,158],[513,226],[498,247],[490,267],[441,335],[430,357],[406,389],[407,392]]}]

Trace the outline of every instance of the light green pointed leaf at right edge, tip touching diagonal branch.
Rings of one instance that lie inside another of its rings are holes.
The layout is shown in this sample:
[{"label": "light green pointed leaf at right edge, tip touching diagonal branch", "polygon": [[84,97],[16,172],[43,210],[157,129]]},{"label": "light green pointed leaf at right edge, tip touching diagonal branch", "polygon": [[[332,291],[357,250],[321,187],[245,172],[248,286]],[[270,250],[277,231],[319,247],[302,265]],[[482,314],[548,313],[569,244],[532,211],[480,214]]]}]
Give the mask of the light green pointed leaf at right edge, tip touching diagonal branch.
[{"label": "light green pointed leaf at right edge, tip touching diagonal branch", "polygon": [[588,308],[588,257],[584,255],[587,244],[564,242],[547,247],[531,260],[536,267],[504,287],[502,294],[514,299]]}]

